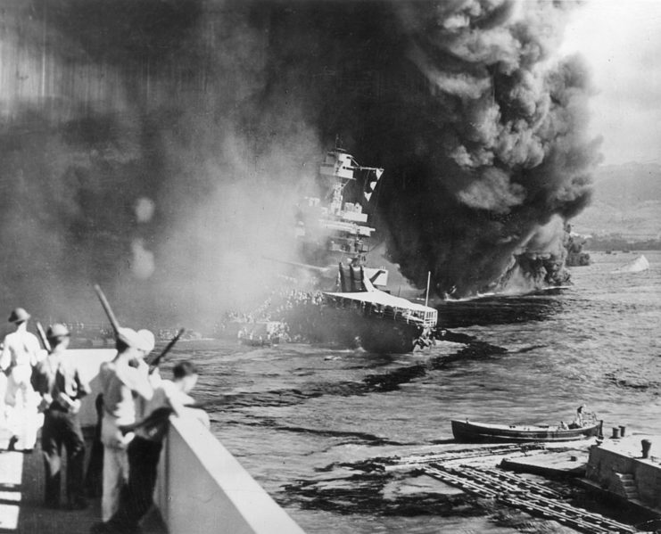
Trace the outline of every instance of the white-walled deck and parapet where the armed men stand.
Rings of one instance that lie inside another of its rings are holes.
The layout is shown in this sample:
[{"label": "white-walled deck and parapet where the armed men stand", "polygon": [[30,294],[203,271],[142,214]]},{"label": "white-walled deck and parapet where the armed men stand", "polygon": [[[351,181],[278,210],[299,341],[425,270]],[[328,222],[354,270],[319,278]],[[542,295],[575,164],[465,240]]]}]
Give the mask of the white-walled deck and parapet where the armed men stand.
[{"label": "white-walled deck and parapet where the armed men stand", "polygon": [[[91,435],[87,429],[96,423],[95,376],[100,363],[112,358],[115,351],[71,352],[93,390],[83,400],[80,411],[85,433]],[[95,522],[101,521],[100,499],[91,499],[86,510],[45,508],[44,461],[38,442],[31,454],[12,452],[7,450],[10,437],[6,429],[0,428],[0,534],[87,534]],[[194,418],[170,420],[154,504],[141,523],[144,534],[303,534],[301,527]]]}]

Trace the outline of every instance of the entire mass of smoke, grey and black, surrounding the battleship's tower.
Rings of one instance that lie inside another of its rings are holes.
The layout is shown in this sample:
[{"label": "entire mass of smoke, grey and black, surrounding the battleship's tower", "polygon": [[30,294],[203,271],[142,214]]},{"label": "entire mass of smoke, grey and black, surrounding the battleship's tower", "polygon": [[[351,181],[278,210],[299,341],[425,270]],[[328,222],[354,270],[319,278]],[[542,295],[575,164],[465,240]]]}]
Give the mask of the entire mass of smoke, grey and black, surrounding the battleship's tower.
[{"label": "entire mass of smoke, grey and black, surrounding the battleship's tower", "polygon": [[[4,7],[0,293],[74,318],[213,323],[292,259],[336,136],[417,285],[561,279],[590,196],[566,3],[32,0]],[[558,222],[559,221],[559,222]]]}]

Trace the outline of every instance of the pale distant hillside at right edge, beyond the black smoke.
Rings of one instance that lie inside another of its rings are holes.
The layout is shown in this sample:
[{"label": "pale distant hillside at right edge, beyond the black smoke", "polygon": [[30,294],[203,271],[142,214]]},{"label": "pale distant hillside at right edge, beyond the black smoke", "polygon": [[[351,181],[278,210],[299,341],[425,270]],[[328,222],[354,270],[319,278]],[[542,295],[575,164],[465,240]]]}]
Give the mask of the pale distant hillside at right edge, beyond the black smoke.
[{"label": "pale distant hillside at right edge, beyond the black smoke", "polygon": [[661,163],[599,167],[592,204],[571,221],[580,234],[661,234]]}]

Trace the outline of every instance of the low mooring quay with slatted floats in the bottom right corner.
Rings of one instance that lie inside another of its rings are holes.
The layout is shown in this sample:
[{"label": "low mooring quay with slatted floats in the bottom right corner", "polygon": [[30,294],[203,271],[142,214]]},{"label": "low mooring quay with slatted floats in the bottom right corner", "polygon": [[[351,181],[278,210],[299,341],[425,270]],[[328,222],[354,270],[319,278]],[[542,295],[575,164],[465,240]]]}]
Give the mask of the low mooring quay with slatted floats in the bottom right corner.
[{"label": "low mooring quay with slatted floats in the bottom right corner", "polygon": [[[640,517],[659,518],[661,464],[649,455],[649,448],[645,453],[648,457],[641,457],[641,439],[646,437],[562,444],[449,444],[433,452],[377,458],[373,464],[385,471],[421,472],[468,494],[580,532],[626,534],[651,530],[573,505],[558,489],[530,475],[562,478],[596,491],[599,497],[632,507],[636,513],[640,511]],[[661,445],[661,437],[647,438],[649,441]]]}]

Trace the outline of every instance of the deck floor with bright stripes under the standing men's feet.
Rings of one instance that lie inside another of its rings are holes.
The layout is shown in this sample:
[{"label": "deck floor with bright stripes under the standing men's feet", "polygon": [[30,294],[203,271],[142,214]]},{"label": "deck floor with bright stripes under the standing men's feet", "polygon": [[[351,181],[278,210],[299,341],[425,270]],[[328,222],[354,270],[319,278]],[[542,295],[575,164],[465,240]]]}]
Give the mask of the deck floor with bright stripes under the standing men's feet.
[{"label": "deck floor with bright stripes under the standing men's feet", "polygon": [[[44,462],[39,440],[32,454],[23,454],[6,450],[9,437],[0,428],[0,534],[87,534],[95,522],[101,521],[100,498],[89,499],[86,510],[45,508]],[[87,442],[87,450],[89,445]],[[148,514],[142,526],[145,534],[167,532],[155,511]]]}]

